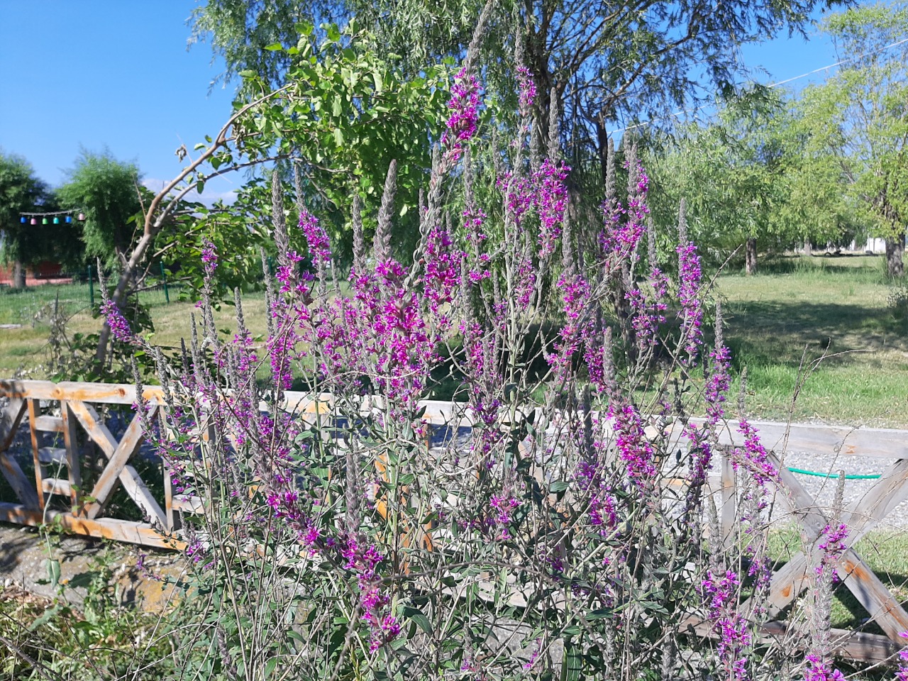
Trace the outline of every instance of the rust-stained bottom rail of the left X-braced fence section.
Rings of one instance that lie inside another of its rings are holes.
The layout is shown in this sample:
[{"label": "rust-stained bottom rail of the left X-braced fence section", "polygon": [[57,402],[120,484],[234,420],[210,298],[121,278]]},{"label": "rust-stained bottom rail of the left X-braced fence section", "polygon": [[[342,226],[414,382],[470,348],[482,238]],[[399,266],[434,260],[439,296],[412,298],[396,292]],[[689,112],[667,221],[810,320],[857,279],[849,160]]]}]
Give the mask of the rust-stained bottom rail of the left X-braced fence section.
[{"label": "rust-stained bottom rail of the left X-braced fence section", "polygon": [[21,504],[0,503],[0,521],[3,522],[37,527],[44,522],[56,520],[59,520],[64,528],[88,537],[115,539],[153,548],[180,551],[186,548],[186,543],[182,539],[163,535],[147,523],[115,520],[114,518],[89,520],[88,518],[76,518],[72,513],[54,510],[46,511],[46,518],[44,518],[44,511],[25,508]]}]

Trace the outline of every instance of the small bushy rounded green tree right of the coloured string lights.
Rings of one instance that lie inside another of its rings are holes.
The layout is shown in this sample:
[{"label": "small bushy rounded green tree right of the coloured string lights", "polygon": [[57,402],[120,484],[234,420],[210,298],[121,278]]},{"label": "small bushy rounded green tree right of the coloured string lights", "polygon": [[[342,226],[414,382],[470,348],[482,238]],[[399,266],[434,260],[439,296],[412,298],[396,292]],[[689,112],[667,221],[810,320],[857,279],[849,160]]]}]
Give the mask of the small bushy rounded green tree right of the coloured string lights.
[{"label": "small bushy rounded green tree right of the coloured string lights", "polygon": [[107,150],[81,151],[57,197],[64,209],[84,212],[83,240],[89,257],[108,266],[122,265],[133,243],[135,216],[142,212],[140,183],[134,163],[117,161]]}]

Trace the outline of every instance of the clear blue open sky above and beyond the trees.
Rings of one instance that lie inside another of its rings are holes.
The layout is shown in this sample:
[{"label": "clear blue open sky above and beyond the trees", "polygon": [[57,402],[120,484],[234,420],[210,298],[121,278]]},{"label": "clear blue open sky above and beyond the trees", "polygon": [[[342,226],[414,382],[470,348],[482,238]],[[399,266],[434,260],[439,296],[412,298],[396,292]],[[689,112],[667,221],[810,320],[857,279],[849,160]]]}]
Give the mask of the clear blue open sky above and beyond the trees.
[{"label": "clear blue open sky above and beyond the trees", "polygon": [[[216,133],[232,101],[232,90],[209,92],[221,72],[210,47],[186,49],[195,4],[0,0],[0,147],[25,156],[51,185],[64,181],[80,145],[106,145],[138,163],[146,183],[172,178],[181,167],[177,147],[192,149]],[[834,63],[832,45],[815,29],[808,33],[808,41],[783,36],[746,46],[755,79],[784,80]],[[212,182],[205,198],[235,183],[242,177]]]}]

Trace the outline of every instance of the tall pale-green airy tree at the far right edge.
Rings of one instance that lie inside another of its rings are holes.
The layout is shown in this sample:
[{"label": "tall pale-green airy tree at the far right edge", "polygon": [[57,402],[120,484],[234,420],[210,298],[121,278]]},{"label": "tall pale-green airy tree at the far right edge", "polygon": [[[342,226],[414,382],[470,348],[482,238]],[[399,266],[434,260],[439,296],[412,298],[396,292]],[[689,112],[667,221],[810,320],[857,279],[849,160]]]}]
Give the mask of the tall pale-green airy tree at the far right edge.
[{"label": "tall pale-green airy tree at the far right edge", "polygon": [[908,220],[908,5],[873,5],[824,22],[844,66],[804,93],[817,143],[835,154],[854,208],[886,241],[886,270],[904,272]]}]

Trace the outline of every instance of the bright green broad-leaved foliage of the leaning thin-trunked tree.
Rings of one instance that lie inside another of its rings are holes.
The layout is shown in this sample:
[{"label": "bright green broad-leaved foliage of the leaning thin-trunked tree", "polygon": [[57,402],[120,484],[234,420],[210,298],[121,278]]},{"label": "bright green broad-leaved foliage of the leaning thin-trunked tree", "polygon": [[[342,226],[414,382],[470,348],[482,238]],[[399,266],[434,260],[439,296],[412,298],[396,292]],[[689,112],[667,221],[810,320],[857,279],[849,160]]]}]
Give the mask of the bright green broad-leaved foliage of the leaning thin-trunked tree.
[{"label": "bright green broad-leaved foliage of the leaning thin-trunked tree", "polygon": [[[253,107],[233,126],[235,146],[212,156],[210,169],[193,173],[188,181],[200,189],[212,173],[261,163],[277,156],[284,183],[292,186],[301,173],[303,202],[324,216],[334,244],[335,261],[350,262],[352,234],[350,206],[359,195],[364,206],[367,233],[374,229],[380,193],[392,160],[397,161],[399,204],[414,205],[427,177],[430,144],[438,139],[449,95],[449,68],[437,66],[416,77],[406,77],[380,55],[365,51],[358,35],[328,31],[329,38],[314,45],[309,27],[301,26],[296,46],[271,45],[272,54],[283,54],[291,63],[287,84],[278,92],[268,79],[243,71],[244,86],[235,104],[274,96]],[[208,143],[197,145],[207,149]],[[299,206],[292,193],[281,190],[289,223],[295,223]],[[262,279],[260,248],[273,253],[271,239],[271,181],[253,177],[232,205],[211,209],[196,206],[163,228],[179,235],[167,241],[166,262],[199,291],[202,271],[198,262],[202,242],[227,246],[235,257],[218,273],[220,294],[232,297],[232,288]],[[398,212],[395,249],[412,252],[419,238],[415,211]],[[291,233],[296,232],[291,230]],[[297,237],[294,237],[297,238]],[[300,244],[302,252],[302,244]]]}]

